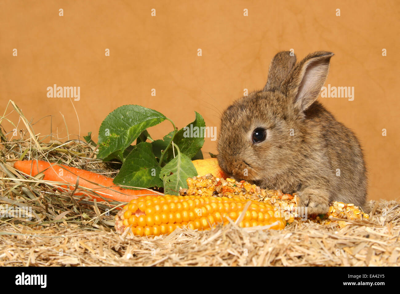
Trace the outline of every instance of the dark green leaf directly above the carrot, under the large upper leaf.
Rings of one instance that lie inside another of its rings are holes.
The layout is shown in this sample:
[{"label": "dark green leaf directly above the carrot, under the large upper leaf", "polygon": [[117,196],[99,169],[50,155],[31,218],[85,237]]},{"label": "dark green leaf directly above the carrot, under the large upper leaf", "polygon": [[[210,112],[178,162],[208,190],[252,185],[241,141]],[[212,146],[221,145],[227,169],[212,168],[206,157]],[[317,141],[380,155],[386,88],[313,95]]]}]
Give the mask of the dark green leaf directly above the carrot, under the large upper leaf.
[{"label": "dark green leaf directly above the carrot, under the large upper leaf", "polygon": [[162,187],[159,178],[161,168],[153,154],[152,145],[141,142],[133,147],[113,182],[141,188]]}]

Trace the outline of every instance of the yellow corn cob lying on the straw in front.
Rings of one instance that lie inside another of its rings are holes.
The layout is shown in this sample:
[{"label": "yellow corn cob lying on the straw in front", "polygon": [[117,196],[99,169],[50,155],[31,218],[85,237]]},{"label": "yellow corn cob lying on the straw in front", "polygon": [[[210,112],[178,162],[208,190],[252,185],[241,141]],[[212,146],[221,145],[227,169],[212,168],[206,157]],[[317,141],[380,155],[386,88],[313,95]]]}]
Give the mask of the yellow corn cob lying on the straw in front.
[{"label": "yellow corn cob lying on the straw in front", "polygon": [[235,221],[251,201],[240,227],[271,226],[282,230],[283,218],[277,217],[274,208],[254,200],[238,197],[214,196],[142,196],[131,200],[116,215],[115,228],[124,232],[127,227],[135,236],[159,236],[187,226],[192,230],[207,230],[216,224],[228,224],[228,217]]}]

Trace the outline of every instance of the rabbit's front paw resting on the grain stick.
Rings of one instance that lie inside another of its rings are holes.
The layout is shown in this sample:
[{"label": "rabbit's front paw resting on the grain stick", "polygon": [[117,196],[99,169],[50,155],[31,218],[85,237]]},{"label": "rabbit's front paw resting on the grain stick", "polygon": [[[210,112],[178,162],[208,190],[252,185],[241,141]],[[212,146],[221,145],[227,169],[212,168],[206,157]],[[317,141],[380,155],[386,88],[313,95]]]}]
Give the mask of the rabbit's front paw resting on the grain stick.
[{"label": "rabbit's front paw resting on the grain stick", "polygon": [[325,190],[307,187],[297,192],[297,206],[307,207],[307,214],[325,214],[329,210],[329,195]]}]

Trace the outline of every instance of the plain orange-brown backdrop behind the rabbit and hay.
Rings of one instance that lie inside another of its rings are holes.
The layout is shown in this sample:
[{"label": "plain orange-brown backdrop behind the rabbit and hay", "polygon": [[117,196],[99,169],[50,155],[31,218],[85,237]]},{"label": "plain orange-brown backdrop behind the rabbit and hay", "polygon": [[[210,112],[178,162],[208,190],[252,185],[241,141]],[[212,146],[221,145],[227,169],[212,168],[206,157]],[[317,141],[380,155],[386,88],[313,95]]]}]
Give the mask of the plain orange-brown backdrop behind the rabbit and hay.
[{"label": "plain orange-brown backdrop behind the rabbit and hay", "polygon": [[[398,197],[400,2],[166,2],[2,0],[0,115],[14,100],[41,135],[50,133],[45,116],[52,115],[60,140],[67,140],[61,113],[70,134],[92,131],[97,140],[102,120],[124,104],[154,108],[179,128],[196,110],[219,127],[221,111],[244,88],[264,87],[276,52],[293,48],[299,60],[329,50],[335,56],[326,85],[354,86],[355,98],[319,99],[360,138],[369,198]],[[53,84],[80,86],[80,101],[47,98]],[[13,113],[8,118],[18,121]],[[150,133],[158,139],[170,130],[163,122]],[[203,151],[216,152],[216,142],[206,139]]]}]

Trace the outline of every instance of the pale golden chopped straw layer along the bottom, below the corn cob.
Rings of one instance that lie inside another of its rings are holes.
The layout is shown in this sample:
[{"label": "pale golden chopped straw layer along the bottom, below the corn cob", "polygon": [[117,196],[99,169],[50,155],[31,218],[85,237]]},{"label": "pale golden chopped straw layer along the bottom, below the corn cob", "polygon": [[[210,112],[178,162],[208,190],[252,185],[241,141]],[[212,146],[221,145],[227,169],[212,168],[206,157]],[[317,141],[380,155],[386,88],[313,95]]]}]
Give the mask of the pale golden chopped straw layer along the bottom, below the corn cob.
[{"label": "pale golden chopped straw layer along the bottom, below the corn cob", "polygon": [[294,222],[283,231],[232,224],[126,239],[79,222],[0,225],[0,266],[390,266],[398,264],[399,205],[382,201],[371,222],[342,229]]}]

